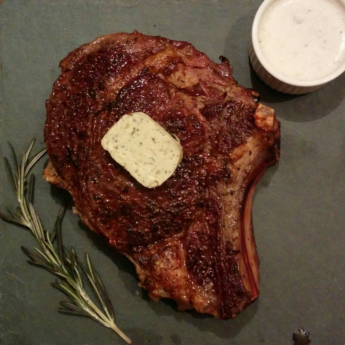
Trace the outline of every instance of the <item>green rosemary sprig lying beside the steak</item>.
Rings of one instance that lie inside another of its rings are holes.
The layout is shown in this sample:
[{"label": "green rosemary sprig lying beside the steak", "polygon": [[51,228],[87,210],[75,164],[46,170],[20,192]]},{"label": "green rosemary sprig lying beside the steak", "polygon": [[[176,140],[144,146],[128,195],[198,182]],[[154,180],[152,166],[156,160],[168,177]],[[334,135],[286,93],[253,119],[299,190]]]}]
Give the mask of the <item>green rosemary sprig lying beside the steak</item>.
[{"label": "green rosemary sprig lying beside the steak", "polygon": [[[43,228],[33,207],[35,177],[31,174],[29,184],[27,184],[27,177],[32,167],[46,153],[46,149],[29,158],[33,144],[34,139],[32,139],[24,153],[20,165],[12,145],[9,144],[13,155],[14,170],[12,170],[10,162],[6,157],[4,157],[4,162],[19,207],[17,207],[16,213],[12,213],[10,210],[7,210],[6,214],[0,213],[0,218],[26,227],[36,238],[39,246],[34,247],[33,251],[26,247],[21,247],[21,249],[29,257],[28,262],[30,264],[43,267],[58,277],[55,283],[51,285],[69,298],[69,302],[60,302],[60,307],[57,308],[59,312],[87,316],[102,326],[112,329],[128,344],[131,344],[131,340],[115,324],[114,309],[111,301],[99,274],[91,263],[89,255],[86,254],[86,265],[84,266],[79,261],[73,247],[67,249],[62,244],[61,222],[65,214],[66,205],[62,205],[53,231]],[[81,272],[87,277],[87,281],[100,307],[86,293]]]}]

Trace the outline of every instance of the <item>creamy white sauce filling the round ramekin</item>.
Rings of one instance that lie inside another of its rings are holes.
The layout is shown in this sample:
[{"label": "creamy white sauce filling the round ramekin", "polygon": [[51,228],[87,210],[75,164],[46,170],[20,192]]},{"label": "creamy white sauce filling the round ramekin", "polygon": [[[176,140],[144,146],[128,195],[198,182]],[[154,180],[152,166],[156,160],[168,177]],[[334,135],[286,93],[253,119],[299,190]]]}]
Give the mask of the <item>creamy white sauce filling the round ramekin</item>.
[{"label": "creamy white sauce filling the round ramekin", "polygon": [[274,70],[315,80],[345,60],[345,10],[337,0],[277,0],[259,26],[262,53]]}]

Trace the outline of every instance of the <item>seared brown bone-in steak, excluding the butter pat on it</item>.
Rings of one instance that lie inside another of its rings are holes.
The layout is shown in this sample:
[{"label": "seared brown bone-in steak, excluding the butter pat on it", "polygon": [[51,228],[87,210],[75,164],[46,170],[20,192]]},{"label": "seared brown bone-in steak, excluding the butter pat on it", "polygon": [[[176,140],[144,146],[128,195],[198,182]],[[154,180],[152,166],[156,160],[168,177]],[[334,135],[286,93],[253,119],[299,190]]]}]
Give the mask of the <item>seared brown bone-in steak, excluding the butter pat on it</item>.
[{"label": "seared brown bone-in steak, excluding the butter pat on it", "polygon": [[[278,160],[280,124],[220,59],[137,31],[72,51],[46,102],[43,175],[134,263],[152,299],[226,319],[259,294],[252,196]],[[140,185],[101,146],[109,128],[135,111],[183,149],[174,174],[156,188]]]}]

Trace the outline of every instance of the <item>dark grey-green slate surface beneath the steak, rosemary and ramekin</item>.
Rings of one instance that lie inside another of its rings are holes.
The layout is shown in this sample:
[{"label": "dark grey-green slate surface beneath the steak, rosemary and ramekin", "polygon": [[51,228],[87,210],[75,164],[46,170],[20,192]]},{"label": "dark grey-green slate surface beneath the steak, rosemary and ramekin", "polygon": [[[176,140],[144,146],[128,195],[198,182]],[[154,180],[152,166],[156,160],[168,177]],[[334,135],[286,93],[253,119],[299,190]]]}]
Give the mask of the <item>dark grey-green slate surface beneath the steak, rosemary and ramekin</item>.
[{"label": "dark grey-green slate surface beneath the steak, rosemary and ramekin", "polygon": [[[102,34],[137,29],[186,40],[217,61],[229,58],[234,77],[254,87],[282,122],[279,165],[260,181],[253,218],[261,260],[259,299],[234,320],[180,313],[152,302],[137,287],[127,259],[108,248],[69,209],[66,245],[87,251],[104,279],[117,324],[150,345],[291,344],[305,327],[313,345],[345,343],[345,75],[306,96],[275,92],[250,69],[247,50],[261,0],[3,0],[0,6],[0,153],[18,153],[37,138],[43,147],[45,100],[69,51]],[[35,204],[52,227],[64,194],[37,173]],[[13,201],[0,166],[1,207]],[[0,222],[0,344],[125,344],[88,319],[54,311],[65,299],[46,271],[26,263],[21,245],[33,239]],[[139,295],[137,295],[137,293]]]}]

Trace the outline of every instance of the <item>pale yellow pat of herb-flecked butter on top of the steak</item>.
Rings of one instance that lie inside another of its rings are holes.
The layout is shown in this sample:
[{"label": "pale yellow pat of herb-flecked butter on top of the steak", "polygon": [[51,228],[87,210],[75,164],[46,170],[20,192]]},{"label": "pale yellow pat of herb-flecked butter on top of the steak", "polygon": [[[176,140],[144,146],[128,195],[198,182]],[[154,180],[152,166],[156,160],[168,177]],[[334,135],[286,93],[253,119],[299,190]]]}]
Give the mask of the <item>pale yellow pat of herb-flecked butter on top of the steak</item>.
[{"label": "pale yellow pat of herb-flecked butter on top of the steak", "polygon": [[160,186],[180,164],[182,147],[144,112],[121,117],[101,141],[102,147],[139,183]]}]

